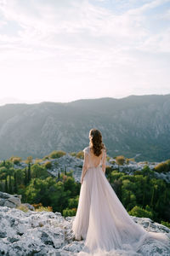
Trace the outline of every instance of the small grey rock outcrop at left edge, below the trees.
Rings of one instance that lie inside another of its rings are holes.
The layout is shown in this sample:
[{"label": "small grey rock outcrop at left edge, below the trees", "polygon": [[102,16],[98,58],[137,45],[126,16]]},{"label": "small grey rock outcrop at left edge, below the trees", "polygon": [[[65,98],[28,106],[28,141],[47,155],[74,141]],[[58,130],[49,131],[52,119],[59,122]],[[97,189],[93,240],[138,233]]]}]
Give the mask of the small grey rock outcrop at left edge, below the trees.
[{"label": "small grey rock outcrop at left edge, below the trees", "polygon": [[3,193],[0,191],[0,206],[1,207],[20,207],[21,195],[9,195],[8,193]]}]

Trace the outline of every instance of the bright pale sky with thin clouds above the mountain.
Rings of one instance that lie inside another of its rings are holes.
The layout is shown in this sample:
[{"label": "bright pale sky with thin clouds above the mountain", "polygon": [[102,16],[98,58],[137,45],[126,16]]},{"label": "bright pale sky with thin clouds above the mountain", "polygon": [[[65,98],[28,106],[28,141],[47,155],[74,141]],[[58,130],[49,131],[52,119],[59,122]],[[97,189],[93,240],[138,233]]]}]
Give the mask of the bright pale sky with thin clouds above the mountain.
[{"label": "bright pale sky with thin clouds above the mountain", "polygon": [[170,93],[170,0],[0,0],[0,104]]}]

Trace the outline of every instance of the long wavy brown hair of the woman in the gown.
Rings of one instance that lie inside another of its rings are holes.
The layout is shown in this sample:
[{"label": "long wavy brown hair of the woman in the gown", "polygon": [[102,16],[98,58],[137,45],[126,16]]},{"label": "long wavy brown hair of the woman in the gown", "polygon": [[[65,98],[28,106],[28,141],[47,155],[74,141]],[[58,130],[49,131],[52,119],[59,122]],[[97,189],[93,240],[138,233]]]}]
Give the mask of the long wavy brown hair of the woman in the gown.
[{"label": "long wavy brown hair of the woman in the gown", "polygon": [[102,153],[101,149],[105,148],[105,144],[102,143],[101,132],[97,129],[91,129],[89,131],[89,139],[89,147],[93,149],[95,155],[99,156]]}]

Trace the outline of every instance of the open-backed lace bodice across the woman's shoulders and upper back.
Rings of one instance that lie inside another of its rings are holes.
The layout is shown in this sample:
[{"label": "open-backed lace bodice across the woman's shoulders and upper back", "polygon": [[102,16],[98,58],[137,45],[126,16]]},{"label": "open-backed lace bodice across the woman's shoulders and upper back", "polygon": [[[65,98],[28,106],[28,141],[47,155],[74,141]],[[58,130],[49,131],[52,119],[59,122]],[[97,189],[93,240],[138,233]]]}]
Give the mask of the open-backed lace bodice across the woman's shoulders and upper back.
[{"label": "open-backed lace bodice across the woman's shoulders and upper back", "polygon": [[87,168],[97,168],[98,166],[102,166],[104,164],[105,160],[105,149],[102,149],[102,154],[99,156],[96,156],[93,154],[93,152],[90,150],[90,147],[86,147],[83,149],[84,154],[88,155],[88,157],[84,158],[84,165],[87,166]]}]

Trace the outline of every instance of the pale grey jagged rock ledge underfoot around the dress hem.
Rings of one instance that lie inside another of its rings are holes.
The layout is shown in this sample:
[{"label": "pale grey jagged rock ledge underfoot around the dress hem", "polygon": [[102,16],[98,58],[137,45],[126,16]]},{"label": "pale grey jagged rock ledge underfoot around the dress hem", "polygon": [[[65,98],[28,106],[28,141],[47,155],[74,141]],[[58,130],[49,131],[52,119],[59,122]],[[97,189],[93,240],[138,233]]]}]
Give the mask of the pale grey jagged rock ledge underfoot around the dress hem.
[{"label": "pale grey jagged rock ledge underfoot around the dress hem", "polygon": [[[84,241],[74,240],[71,230],[74,218],[64,218],[60,212],[23,212],[0,207],[0,255],[77,255]],[[132,218],[144,229],[166,233],[170,238],[170,230],[150,218]],[[148,240],[138,255],[170,255],[170,246]]]}]

